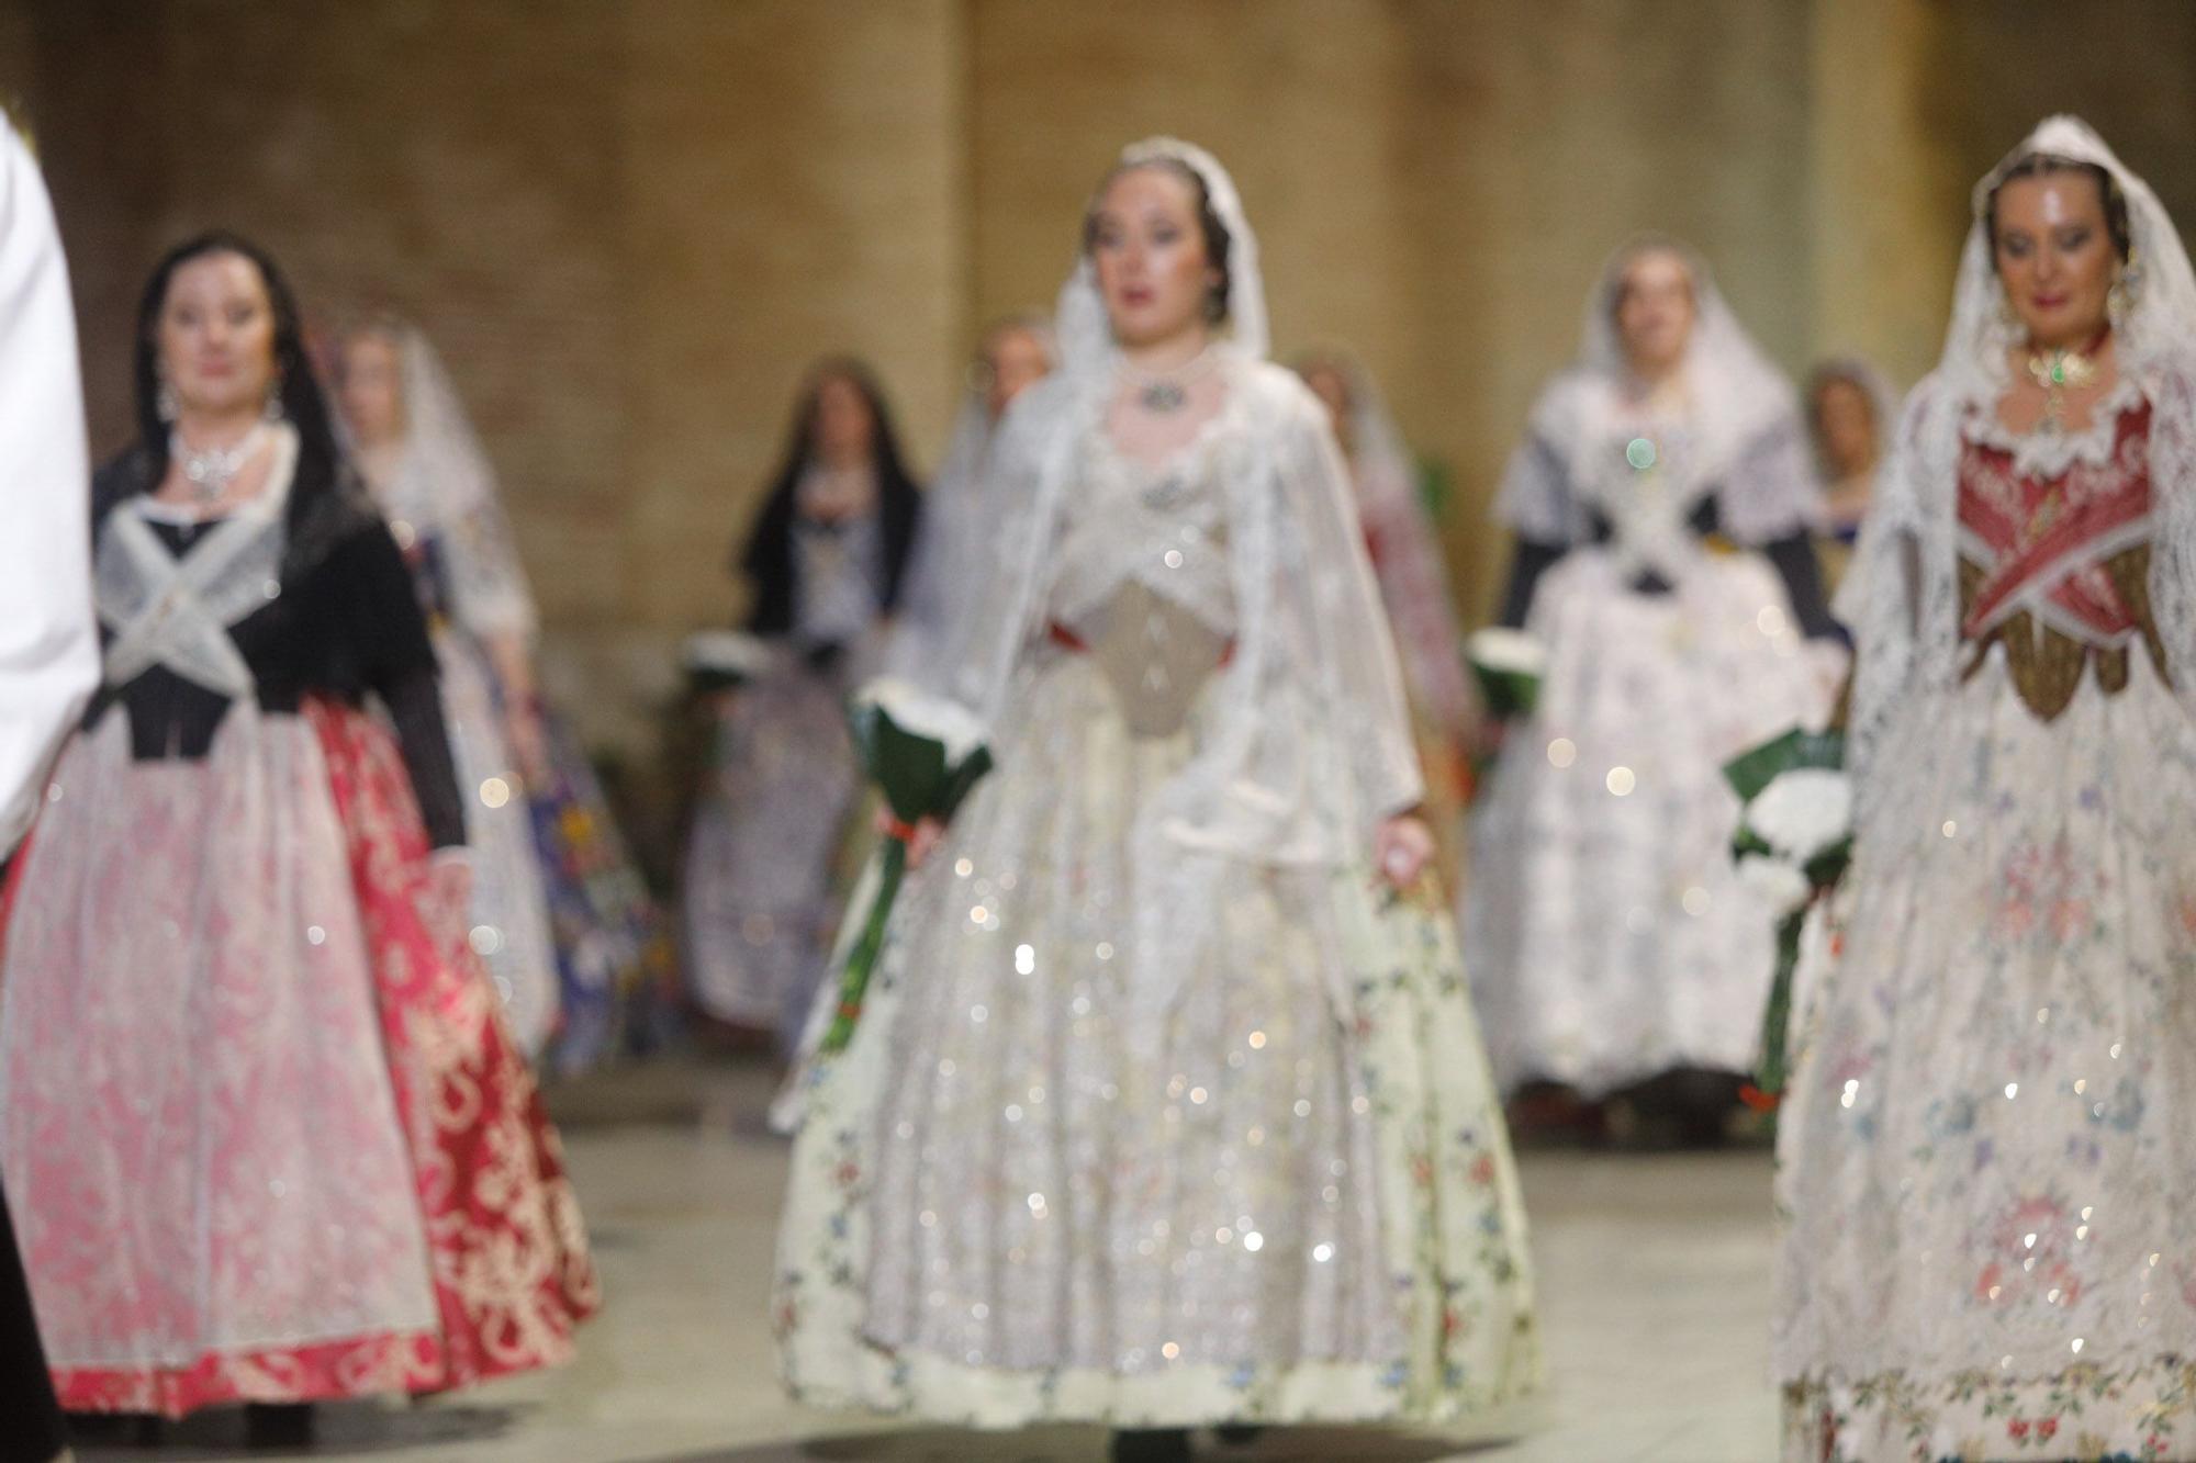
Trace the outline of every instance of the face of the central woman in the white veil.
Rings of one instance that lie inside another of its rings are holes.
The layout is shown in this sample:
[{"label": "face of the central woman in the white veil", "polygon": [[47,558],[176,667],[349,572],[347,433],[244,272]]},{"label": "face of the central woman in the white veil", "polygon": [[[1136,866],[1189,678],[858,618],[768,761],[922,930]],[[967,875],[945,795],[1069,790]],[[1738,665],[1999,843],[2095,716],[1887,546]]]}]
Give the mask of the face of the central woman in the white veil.
[{"label": "face of the central woman in the white veil", "polygon": [[1149,347],[1201,334],[1219,270],[1206,257],[1197,189],[1170,167],[1131,167],[1107,185],[1091,261],[1113,338]]}]

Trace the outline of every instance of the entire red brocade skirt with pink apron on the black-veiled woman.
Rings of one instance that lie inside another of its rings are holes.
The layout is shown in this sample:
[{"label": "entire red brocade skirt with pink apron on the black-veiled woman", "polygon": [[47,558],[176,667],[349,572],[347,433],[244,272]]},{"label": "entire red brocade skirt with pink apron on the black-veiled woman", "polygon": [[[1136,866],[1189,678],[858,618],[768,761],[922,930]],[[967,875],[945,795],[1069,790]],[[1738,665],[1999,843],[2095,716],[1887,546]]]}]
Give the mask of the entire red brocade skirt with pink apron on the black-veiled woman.
[{"label": "entire red brocade skirt with pink apron on the black-veiled woman", "polygon": [[121,716],[55,773],[4,931],[0,1171],[61,1404],[441,1391],[595,1307],[534,1079],[428,912],[393,738],[231,710],[200,762]]}]

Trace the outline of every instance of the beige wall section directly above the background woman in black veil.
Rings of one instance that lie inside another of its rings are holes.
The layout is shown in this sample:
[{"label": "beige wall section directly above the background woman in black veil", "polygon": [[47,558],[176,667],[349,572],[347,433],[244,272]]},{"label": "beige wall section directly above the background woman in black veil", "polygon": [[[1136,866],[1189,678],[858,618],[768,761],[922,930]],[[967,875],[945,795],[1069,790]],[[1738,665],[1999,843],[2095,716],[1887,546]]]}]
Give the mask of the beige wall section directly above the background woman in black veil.
[{"label": "beige wall section directly above the background woman in black veil", "polygon": [[738,604],[727,556],[808,360],[867,358],[916,466],[942,448],[968,316],[962,7],[654,0],[621,13],[626,604],[679,630]]}]

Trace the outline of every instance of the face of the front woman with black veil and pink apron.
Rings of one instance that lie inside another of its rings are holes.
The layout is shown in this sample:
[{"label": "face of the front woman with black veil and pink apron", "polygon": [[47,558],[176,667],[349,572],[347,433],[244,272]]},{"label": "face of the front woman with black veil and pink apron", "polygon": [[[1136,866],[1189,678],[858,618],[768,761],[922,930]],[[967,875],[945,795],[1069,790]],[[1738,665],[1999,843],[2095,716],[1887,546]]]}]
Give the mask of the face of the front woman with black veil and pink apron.
[{"label": "face of the front woman with black veil and pink apron", "polygon": [[184,413],[261,411],[274,384],[274,303],[259,266],[235,253],[178,266],[160,301],[154,347]]}]

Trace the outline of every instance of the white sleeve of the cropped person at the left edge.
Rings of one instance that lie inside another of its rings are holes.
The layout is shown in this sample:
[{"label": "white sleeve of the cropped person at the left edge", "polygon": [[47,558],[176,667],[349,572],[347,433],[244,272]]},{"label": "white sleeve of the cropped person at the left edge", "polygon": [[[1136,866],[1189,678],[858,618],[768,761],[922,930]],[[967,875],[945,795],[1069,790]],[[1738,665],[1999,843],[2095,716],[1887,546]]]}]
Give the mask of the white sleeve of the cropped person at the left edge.
[{"label": "white sleeve of the cropped person at the left edge", "polygon": [[99,681],[88,496],[61,239],[29,147],[0,123],[0,855]]}]

